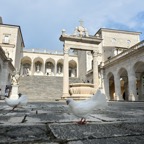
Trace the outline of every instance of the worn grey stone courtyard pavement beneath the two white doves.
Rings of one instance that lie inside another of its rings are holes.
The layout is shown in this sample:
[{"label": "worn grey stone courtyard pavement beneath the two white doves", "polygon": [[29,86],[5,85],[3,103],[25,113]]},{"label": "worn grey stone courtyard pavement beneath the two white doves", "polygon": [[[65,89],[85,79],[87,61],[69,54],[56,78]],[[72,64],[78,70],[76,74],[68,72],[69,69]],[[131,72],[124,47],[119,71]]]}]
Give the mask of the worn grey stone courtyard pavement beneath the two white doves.
[{"label": "worn grey stone courtyard pavement beneath the two white doves", "polygon": [[0,143],[144,144],[144,102],[109,102],[78,125],[65,102],[28,103],[12,108],[0,102]]}]

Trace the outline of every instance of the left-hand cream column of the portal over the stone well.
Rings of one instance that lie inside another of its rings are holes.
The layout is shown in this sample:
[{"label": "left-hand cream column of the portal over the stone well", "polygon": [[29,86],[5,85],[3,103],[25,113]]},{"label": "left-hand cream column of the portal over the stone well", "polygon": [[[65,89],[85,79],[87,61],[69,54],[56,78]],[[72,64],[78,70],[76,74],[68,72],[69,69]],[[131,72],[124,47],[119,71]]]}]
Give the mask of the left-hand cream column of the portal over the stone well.
[{"label": "left-hand cream column of the portal over the stone well", "polygon": [[63,96],[62,98],[69,96],[69,48],[64,45],[64,68],[63,68]]}]

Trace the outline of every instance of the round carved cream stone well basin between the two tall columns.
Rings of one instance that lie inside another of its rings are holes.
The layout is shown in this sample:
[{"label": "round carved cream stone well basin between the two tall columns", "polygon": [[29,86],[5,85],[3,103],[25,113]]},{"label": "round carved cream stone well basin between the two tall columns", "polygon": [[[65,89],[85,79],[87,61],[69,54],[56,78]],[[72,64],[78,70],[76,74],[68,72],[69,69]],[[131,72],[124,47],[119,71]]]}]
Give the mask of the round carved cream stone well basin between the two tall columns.
[{"label": "round carved cream stone well basin between the two tall columns", "polygon": [[91,83],[73,83],[70,84],[69,93],[71,98],[87,99],[96,93],[96,88]]}]

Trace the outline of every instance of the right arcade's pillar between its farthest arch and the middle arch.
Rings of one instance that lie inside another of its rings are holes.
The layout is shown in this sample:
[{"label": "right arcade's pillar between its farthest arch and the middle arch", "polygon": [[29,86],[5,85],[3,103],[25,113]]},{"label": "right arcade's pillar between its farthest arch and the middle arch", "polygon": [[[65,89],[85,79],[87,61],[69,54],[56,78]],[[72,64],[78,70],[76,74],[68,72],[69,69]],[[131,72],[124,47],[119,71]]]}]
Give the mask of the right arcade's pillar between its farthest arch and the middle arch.
[{"label": "right arcade's pillar between its farthest arch and the middle arch", "polygon": [[115,100],[123,100],[121,95],[121,85],[120,85],[120,76],[114,74],[114,84],[115,84]]}]

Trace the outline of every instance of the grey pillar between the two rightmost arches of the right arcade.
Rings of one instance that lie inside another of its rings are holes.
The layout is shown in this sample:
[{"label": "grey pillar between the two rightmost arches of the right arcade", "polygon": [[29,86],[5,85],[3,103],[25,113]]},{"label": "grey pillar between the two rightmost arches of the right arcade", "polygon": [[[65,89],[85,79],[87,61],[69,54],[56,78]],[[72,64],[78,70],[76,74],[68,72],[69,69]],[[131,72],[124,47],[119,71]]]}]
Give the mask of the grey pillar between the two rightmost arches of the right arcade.
[{"label": "grey pillar between the two rightmost arches of the right arcade", "polygon": [[129,100],[130,101],[138,100],[136,94],[136,76],[132,68],[128,70],[128,85],[129,85]]}]

